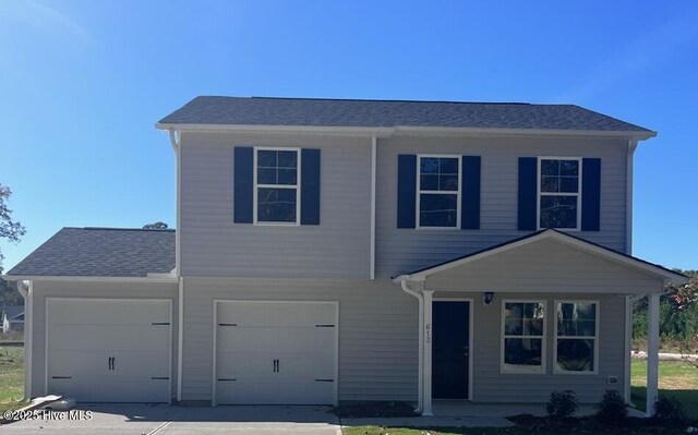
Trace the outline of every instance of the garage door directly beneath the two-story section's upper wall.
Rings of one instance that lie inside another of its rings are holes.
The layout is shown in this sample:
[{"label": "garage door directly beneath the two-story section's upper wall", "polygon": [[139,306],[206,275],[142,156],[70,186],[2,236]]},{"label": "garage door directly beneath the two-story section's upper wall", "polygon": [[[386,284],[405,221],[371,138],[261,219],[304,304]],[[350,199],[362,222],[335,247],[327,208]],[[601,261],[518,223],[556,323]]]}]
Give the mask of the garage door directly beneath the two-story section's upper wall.
[{"label": "garage door directly beneath the two-story section's upper wall", "polygon": [[336,302],[216,303],[216,402],[334,404]]}]

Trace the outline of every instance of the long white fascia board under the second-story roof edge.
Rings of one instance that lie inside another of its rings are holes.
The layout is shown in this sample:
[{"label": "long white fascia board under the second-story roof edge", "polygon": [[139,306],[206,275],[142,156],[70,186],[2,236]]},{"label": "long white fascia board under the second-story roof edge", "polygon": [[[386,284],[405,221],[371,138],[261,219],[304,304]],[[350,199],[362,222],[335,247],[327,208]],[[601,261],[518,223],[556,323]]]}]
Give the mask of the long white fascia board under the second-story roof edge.
[{"label": "long white fascia board under the second-story roof edge", "polygon": [[657,136],[652,131],[599,131],[552,129],[480,129],[458,126],[314,126],[314,125],[238,125],[156,123],[158,130],[178,132],[248,133],[248,134],[320,134],[360,137],[417,136],[557,136],[557,137],[618,137],[643,141]]}]

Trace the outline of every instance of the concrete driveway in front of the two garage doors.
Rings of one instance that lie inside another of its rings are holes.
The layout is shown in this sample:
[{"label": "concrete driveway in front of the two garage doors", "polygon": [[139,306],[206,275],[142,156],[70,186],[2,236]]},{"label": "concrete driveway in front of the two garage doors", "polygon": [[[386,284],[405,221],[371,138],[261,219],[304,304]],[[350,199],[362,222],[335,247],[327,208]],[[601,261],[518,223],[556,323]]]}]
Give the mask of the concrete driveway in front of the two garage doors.
[{"label": "concrete driveway in front of the two garage doors", "polygon": [[[89,420],[85,418],[84,411],[92,411]],[[83,403],[73,411],[71,415],[73,419],[68,419],[65,414],[61,418],[58,414],[63,413],[39,413],[35,420],[17,421],[3,425],[0,427],[0,434],[341,434],[339,419],[328,407],[181,408],[149,404]]]}]

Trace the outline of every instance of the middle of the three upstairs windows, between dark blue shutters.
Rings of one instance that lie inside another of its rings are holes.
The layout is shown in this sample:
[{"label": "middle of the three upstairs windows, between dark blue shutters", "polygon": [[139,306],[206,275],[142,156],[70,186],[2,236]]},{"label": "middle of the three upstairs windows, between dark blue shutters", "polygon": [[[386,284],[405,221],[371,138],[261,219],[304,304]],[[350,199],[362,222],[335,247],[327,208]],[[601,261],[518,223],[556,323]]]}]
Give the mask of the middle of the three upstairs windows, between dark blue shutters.
[{"label": "middle of the three upstairs windows, between dark blue shutters", "polygon": [[460,157],[419,156],[418,228],[460,228]]}]

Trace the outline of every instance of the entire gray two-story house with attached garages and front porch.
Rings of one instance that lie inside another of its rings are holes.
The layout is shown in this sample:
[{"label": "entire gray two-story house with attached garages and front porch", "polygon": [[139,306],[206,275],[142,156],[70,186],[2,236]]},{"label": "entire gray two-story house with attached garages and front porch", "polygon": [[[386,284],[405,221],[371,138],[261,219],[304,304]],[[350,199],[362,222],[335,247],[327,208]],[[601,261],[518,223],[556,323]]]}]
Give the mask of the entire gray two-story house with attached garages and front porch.
[{"label": "entire gray two-story house with attached garages and front porch", "polygon": [[[64,228],[8,273],[26,396],[202,404],[629,400],[654,132],[570,105],[197,97],[156,126],[177,231]],[[651,406],[648,409],[651,410]]]}]

